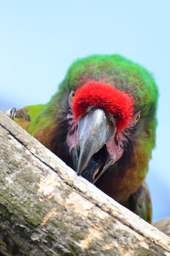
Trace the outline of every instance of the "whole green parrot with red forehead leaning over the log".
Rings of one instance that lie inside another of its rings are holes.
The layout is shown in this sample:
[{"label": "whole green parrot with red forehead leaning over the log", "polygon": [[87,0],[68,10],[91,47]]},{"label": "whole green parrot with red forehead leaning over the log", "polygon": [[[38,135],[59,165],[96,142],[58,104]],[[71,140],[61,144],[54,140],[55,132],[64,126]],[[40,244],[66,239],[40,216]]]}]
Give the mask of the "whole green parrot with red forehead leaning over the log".
[{"label": "whole green parrot with red forehead leaning over the log", "polygon": [[10,112],[77,175],[151,223],[145,177],[158,94],[141,65],[118,54],[94,54],[72,63],[47,104]]}]

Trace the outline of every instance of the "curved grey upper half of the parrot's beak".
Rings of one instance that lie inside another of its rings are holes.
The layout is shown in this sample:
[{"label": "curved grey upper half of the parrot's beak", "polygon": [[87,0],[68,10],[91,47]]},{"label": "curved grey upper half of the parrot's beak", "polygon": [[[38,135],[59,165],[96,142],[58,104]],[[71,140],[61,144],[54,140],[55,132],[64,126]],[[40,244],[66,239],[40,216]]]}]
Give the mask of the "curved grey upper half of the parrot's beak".
[{"label": "curved grey upper half of the parrot's beak", "polygon": [[113,122],[110,121],[108,114],[102,108],[92,108],[84,117],[79,119],[80,154],[77,175],[81,175],[91,157],[106,144],[114,134],[114,130]]}]

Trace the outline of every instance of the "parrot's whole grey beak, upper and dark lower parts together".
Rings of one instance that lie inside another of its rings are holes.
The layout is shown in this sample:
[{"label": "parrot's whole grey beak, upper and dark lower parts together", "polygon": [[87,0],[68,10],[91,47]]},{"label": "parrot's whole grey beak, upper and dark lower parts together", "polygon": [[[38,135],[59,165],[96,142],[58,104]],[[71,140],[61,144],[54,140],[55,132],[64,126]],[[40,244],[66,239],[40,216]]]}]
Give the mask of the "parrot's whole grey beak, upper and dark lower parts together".
[{"label": "parrot's whole grey beak, upper and dark lower parts together", "polygon": [[[106,142],[113,136],[115,126],[102,108],[92,108],[78,122],[79,159],[77,175],[94,182],[99,168],[110,162]],[[106,170],[106,168],[104,168]],[[103,172],[102,172],[103,173]]]}]

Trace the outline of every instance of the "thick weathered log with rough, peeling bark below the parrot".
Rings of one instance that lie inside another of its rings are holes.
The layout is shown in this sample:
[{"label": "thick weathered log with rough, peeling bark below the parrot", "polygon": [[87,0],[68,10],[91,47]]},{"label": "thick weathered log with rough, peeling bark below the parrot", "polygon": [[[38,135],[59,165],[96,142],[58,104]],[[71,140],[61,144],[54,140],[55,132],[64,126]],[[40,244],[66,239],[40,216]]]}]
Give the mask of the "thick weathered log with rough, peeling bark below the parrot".
[{"label": "thick weathered log with rough, peeling bark below the parrot", "polygon": [[170,238],[0,112],[0,253],[170,256]]}]

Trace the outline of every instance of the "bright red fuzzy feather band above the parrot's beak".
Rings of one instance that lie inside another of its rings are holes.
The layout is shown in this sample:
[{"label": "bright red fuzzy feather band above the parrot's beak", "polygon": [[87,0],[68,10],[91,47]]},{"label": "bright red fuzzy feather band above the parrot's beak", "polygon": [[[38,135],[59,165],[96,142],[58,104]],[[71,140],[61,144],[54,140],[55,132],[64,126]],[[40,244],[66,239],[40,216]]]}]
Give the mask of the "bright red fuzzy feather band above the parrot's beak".
[{"label": "bright red fuzzy feather band above the parrot's beak", "polygon": [[117,90],[112,84],[89,81],[75,92],[73,112],[76,121],[85,115],[88,106],[104,108],[116,118],[117,131],[127,127],[133,112],[132,96]]}]

